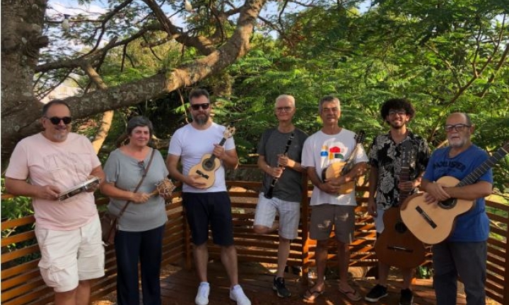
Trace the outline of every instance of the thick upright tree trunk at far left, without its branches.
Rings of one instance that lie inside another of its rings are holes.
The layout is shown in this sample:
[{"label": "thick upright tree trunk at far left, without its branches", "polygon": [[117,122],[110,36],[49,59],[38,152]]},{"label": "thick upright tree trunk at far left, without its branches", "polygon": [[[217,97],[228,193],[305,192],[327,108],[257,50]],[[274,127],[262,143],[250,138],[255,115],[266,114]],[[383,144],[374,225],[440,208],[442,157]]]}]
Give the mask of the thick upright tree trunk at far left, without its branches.
[{"label": "thick upright tree trunk at far left, without its branches", "polygon": [[28,135],[25,128],[40,130],[34,122],[42,104],[33,94],[33,77],[39,49],[47,45],[42,36],[46,5],[45,0],[1,1],[2,172],[18,140]]}]

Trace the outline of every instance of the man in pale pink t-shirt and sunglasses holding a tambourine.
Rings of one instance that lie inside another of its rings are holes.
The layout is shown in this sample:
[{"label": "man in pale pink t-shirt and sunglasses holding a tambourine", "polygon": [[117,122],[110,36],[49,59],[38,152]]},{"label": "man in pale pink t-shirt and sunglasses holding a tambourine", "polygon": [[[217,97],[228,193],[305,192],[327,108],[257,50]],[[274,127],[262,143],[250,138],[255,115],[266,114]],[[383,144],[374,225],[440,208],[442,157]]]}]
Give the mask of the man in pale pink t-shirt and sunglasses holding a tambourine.
[{"label": "man in pale pink t-shirt and sunglasses holding a tambourine", "polygon": [[91,186],[59,201],[59,193],[90,176],[104,180],[95,151],[84,136],[71,133],[71,110],[62,100],[42,107],[44,131],[21,140],[9,162],[5,185],[14,195],[33,198],[40,273],[54,290],[54,304],[85,305],[92,279],[104,275],[104,247]]}]

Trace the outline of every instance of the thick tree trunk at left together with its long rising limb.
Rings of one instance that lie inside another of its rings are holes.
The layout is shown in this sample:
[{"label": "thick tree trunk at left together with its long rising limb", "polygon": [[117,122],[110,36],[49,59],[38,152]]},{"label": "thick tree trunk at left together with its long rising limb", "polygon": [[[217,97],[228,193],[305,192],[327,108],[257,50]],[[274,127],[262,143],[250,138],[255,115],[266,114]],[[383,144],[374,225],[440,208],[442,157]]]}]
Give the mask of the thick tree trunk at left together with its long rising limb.
[{"label": "thick tree trunk at left together with its long rising limb", "polygon": [[[223,71],[247,53],[256,18],[266,1],[247,0],[240,10],[232,37],[201,59],[142,80],[65,99],[72,116],[84,118],[151,100]],[[16,143],[40,131],[38,118],[42,104],[34,97],[33,77],[39,59],[37,47],[40,48],[40,42],[44,41],[40,35],[46,5],[46,0],[1,1],[2,172]],[[26,44],[23,44],[23,38]]]}]

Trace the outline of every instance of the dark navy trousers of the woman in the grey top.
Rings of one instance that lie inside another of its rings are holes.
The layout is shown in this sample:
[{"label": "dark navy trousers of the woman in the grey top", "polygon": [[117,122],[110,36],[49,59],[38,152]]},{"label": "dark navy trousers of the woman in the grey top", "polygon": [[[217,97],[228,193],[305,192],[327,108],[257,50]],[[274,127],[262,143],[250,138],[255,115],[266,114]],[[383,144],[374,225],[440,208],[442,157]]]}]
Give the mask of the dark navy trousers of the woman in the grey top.
[{"label": "dark navy trousers of the woman in the grey top", "polygon": [[164,228],[163,225],[143,232],[117,232],[117,304],[139,305],[139,262],[143,304],[161,305],[159,275]]}]

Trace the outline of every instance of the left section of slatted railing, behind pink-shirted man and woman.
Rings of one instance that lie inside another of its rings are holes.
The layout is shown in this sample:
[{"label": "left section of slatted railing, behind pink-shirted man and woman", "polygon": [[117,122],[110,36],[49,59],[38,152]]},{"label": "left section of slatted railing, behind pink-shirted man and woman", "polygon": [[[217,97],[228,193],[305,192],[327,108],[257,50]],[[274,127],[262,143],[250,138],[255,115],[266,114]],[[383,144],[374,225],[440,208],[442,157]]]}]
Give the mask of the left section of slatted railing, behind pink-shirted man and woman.
[{"label": "left section of slatted railing, behind pink-shirted man and woman", "polygon": [[[168,223],[163,239],[163,264],[181,263],[185,258],[186,239],[189,240],[189,229],[182,212],[181,193],[176,192],[172,203],[166,205]],[[9,196],[2,195],[2,200]],[[97,205],[107,204],[101,198]],[[101,213],[102,214],[102,213]],[[49,289],[40,276],[37,264],[40,261],[40,250],[33,232],[33,216],[1,222],[1,304],[49,304],[53,301],[53,290]],[[29,225],[31,228],[23,233],[4,237],[7,232]],[[190,267],[190,266],[188,266]],[[113,246],[105,248],[105,276],[94,280],[92,300],[100,299],[116,289],[117,260]]]}]

